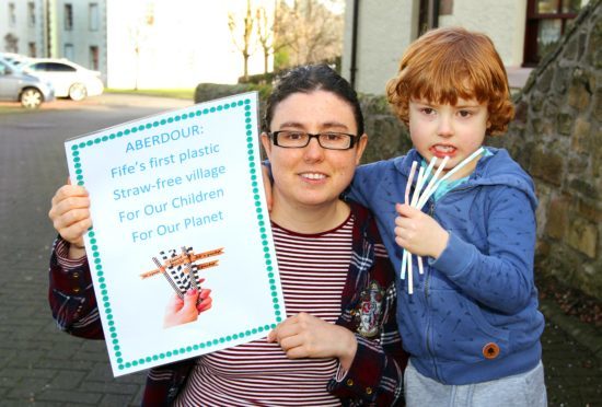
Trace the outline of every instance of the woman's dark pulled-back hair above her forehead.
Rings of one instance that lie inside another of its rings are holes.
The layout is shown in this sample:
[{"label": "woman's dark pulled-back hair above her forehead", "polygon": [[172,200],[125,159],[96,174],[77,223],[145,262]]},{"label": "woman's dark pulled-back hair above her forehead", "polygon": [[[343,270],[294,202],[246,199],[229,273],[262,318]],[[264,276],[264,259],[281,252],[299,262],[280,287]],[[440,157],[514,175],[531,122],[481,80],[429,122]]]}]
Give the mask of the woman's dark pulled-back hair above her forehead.
[{"label": "woman's dark pulled-back hair above her forehead", "polygon": [[280,102],[293,93],[310,93],[313,91],[331,92],[349,103],[356,118],[358,136],[363,135],[363,115],[361,114],[356,91],[354,91],[347,80],[336,73],[334,69],[323,63],[292,68],[278,78],[271,94],[267,98],[264,130],[269,131],[274,111]]}]

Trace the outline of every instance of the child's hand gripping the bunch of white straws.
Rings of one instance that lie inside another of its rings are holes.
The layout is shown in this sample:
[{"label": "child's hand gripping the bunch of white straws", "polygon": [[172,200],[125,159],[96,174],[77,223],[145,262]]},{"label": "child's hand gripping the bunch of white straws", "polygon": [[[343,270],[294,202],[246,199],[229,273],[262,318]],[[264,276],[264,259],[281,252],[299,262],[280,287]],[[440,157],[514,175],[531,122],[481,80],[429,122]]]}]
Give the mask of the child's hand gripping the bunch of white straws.
[{"label": "child's hand gripping the bunch of white straws", "polygon": [[431,217],[409,205],[397,203],[395,242],[412,254],[438,258],[448,245],[450,234]]}]

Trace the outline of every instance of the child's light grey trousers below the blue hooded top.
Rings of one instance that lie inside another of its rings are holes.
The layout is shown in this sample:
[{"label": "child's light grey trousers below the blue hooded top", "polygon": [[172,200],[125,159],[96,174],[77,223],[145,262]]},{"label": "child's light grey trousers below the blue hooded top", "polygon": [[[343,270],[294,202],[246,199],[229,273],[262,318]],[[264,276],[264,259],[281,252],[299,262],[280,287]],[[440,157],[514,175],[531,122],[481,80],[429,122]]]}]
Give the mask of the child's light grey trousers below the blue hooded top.
[{"label": "child's light grey trousers below the blue hooded top", "polygon": [[404,374],[407,407],[546,407],[542,362],[531,371],[490,382],[448,385],[421,375],[412,358]]}]

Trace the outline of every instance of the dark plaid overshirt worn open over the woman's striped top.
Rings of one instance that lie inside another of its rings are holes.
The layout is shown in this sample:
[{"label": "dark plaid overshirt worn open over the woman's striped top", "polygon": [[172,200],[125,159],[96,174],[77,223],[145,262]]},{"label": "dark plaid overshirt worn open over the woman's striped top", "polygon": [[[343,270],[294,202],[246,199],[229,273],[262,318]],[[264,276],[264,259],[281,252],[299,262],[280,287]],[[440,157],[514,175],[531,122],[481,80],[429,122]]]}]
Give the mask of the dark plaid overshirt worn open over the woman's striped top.
[{"label": "dark plaid overshirt worn open over the woman's striped top", "polygon": [[[336,324],[355,333],[358,349],[349,370],[339,370],[338,374],[344,376],[332,377],[327,388],[345,406],[397,406],[404,402],[402,371],[407,354],[402,349],[395,321],[394,271],[372,214],[352,202],[350,207],[354,217],[352,258],[343,290],[343,313]],[[68,259],[68,252],[69,244],[58,236],[53,245],[48,274],[48,302],[53,317],[57,326],[70,335],[103,339],[89,263],[85,256]],[[379,335],[368,338],[359,332],[358,315],[363,309],[362,299],[373,283],[383,289],[384,298],[379,306],[382,311]],[[196,359],[186,359],[151,369],[142,406],[172,405],[186,386],[195,363]]]}]

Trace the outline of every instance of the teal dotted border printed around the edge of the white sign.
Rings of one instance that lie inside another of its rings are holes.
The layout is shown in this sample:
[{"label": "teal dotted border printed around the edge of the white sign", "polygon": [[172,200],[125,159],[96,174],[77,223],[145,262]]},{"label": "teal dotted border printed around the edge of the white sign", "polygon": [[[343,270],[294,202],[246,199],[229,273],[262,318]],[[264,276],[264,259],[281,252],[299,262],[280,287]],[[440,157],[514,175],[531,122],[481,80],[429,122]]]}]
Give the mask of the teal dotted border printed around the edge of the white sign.
[{"label": "teal dotted border printed around the edge of the white sign", "polygon": [[[146,130],[150,130],[150,129],[153,129],[153,128],[157,128],[157,127],[160,127],[160,126],[164,126],[166,124],[172,124],[174,121],[187,120],[187,119],[199,117],[201,115],[209,115],[209,114],[212,114],[212,113],[216,113],[216,112],[223,112],[223,111],[229,111],[231,108],[233,109],[233,108],[239,108],[239,107],[243,107],[243,106],[244,106],[244,111],[245,111],[245,113],[244,113],[245,129],[246,129],[245,135],[246,135],[247,148],[248,148],[247,149],[248,174],[250,174],[250,177],[251,177],[251,186],[253,187],[253,197],[254,197],[255,207],[256,207],[255,214],[256,214],[256,221],[257,221],[257,225],[259,226],[259,232],[261,232],[261,237],[262,237],[262,246],[263,246],[263,251],[264,251],[264,263],[265,263],[265,266],[266,266],[269,288],[270,288],[270,291],[271,291],[271,298],[273,298],[271,302],[273,302],[273,307],[274,307],[274,315],[275,315],[276,321],[279,323],[279,322],[282,321],[282,315],[281,315],[281,311],[280,311],[279,300],[278,300],[278,291],[277,291],[277,287],[276,287],[276,280],[274,278],[275,276],[274,276],[273,258],[271,258],[271,255],[270,255],[270,252],[269,252],[269,242],[267,240],[267,234],[266,234],[267,216],[266,216],[266,213],[264,213],[264,210],[262,209],[262,205],[261,205],[261,200],[259,200],[261,197],[259,197],[257,177],[261,176],[261,174],[257,175],[257,173],[261,170],[256,168],[255,155],[254,155],[254,150],[253,150],[254,144],[253,144],[253,125],[252,125],[252,119],[251,119],[251,115],[252,115],[252,113],[251,113],[251,108],[252,108],[251,107],[251,100],[245,98],[244,101],[240,100],[238,102],[235,101],[235,102],[225,103],[225,104],[221,104],[221,105],[217,105],[217,106],[212,106],[212,107],[206,107],[204,109],[198,108],[197,111],[193,111],[193,112],[189,112],[189,113],[183,113],[181,115],[175,115],[175,116],[172,116],[172,117],[167,117],[166,119],[163,118],[161,120],[149,121],[149,123],[146,123],[146,124],[132,126],[132,127],[127,128],[125,130],[119,130],[119,131],[116,131],[116,132],[111,132],[111,133],[107,133],[107,135],[104,135],[104,136],[101,136],[101,137],[96,137],[95,139],[91,139],[91,140],[88,140],[88,141],[82,141],[80,143],[76,143],[76,144],[71,146],[71,155],[72,155],[72,159],[73,159],[73,166],[76,168],[77,184],[83,186],[85,183],[84,183],[83,170],[82,170],[81,159],[80,159],[80,151],[81,150],[90,148],[90,147],[94,147],[94,146],[100,144],[102,142],[112,141],[112,140],[119,139],[119,138],[123,138],[123,137],[128,137],[129,135],[137,133],[138,131],[146,131]],[[100,306],[103,307],[103,310],[106,314],[106,318],[108,321],[108,323],[107,323],[108,324],[108,335],[107,336],[111,338],[111,344],[113,346],[113,350],[115,352],[115,358],[116,358],[116,361],[118,363],[118,369],[119,370],[129,369],[131,367],[137,367],[139,364],[142,365],[144,363],[150,363],[150,362],[154,362],[154,361],[158,361],[158,360],[170,359],[174,356],[185,354],[187,352],[196,351],[198,349],[211,348],[211,347],[222,345],[222,344],[225,344],[225,342],[229,342],[229,341],[232,341],[232,340],[236,340],[236,339],[240,339],[240,338],[244,338],[244,337],[257,334],[257,333],[268,332],[268,330],[274,329],[276,327],[276,324],[256,326],[256,327],[253,327],[253,328],[250,328],[250,329],[246,329],[246,330],[241,330],[240,333],[234,333],[234,334],[231,334],[231,335],[227,335],[224,337],[216,338],[216,339],[212,339],[212,340],[207,340],[205,342],[194,344],[194,345],[187,346],[186,348],[172,349],[172,350],[167,350],[165,352],[161,352],[161,353],[158,353],[158,354],[152,354],[152,356],[148,356],[146,358],[140,358],[138,360],[125,361],[124,358],[123,358],[123,353],[121,353],[121,347],[119,345],[119,337],[117,335],[117,327],[115,326],[115,321],[113,321],[113,310],[111,309],[111,298],[108,295],[108,289],[106,287],[104,270],[103,270],[102,260],[101,260],[101,252],[99,249],[99,245],[96,244],[96,239],[95,239],[95,233],[94,233],[93,228],[90,228],[88,230],[88,237],[90,237],[90,245],[91,245],[90,248],[92,249],[92,257],[93,257],[95,274],[96,274],[96,277],[97,277],[97,281],[99,281],[99,288],[101,289],[101,292],[100,292],[101,296],[100,296],[100,299],[97,299],[99,300],[97,303],[99,303]]]}]

